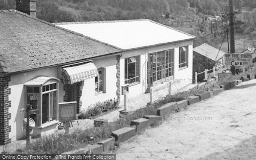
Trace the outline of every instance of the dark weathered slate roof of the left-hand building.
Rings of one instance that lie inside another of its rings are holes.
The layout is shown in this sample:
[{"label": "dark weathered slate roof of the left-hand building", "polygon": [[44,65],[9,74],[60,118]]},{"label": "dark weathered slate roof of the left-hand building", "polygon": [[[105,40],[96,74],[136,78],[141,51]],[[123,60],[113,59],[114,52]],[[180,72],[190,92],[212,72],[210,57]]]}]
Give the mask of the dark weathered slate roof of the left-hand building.
[{"label": "dark weathered slate roof of the left-hand building", "polygon": [[122,52],[16,10],[0,10],[0,73]]}]

